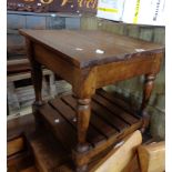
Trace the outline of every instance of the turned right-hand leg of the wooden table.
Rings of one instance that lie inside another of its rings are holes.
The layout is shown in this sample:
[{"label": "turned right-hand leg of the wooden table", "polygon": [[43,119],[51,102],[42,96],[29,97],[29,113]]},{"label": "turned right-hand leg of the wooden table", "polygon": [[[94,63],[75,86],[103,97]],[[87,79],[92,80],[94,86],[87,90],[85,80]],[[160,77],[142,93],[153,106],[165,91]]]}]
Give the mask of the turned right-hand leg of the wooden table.
[{"label": "turned right-hand leg of the wooden table", "polygon": [[153,90],[154,80],[155,80],[155,74],[145,74],[144,88],[143,88],[143,100],[141,104],[141,114],[143,117],[143,125],[141,129],[142,132],[145,131],[150,122],[150,117],[146,113],[145,109]]}]

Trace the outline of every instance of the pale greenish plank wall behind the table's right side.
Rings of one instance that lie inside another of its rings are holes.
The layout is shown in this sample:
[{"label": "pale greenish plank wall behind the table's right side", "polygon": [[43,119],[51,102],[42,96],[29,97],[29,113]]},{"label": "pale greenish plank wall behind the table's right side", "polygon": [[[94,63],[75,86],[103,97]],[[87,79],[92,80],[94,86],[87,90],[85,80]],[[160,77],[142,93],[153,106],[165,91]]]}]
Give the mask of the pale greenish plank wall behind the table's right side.
[{"label": "pale greenish plank wall behind the table's right side", "polygon": [[[165,29],[163,27],[150,26],[132,26],[112,22],[104,19],[98,19],[91,16],[81,18],[81,29],[83,30],[105,30],[112,33],[124,34],[141,40],[151,42],[165,43]],[[117,91],[123,93],[124,97],[130,97],[134,101],[142,100],[143,75],[133,78],[123,82],[109,85],[108,91]],[[149,102],[148,111],[151,114],[150,132],[152,135],[165,138],[165,67],[164,61],[161,67],[161,72],[155,80],[154,90]]]}]

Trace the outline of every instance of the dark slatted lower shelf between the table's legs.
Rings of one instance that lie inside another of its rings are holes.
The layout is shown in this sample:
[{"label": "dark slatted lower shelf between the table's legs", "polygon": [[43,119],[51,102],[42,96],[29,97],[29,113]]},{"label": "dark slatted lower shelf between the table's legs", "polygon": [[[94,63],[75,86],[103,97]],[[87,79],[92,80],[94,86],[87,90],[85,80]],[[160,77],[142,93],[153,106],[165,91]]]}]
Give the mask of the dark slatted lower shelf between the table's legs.
[{"label": "dark slatted lower shelf between the table's legs", "polygon": [[[117,143],[142,125],[142,119],[123,100],[103,90],[91,102],[91,121],[87,141],[91,148]],[[70,151],[77,145],[77,100],[73,95],[53,99],[39,108],[48,130]]]}]

